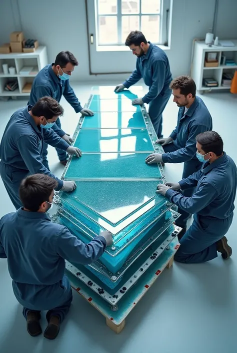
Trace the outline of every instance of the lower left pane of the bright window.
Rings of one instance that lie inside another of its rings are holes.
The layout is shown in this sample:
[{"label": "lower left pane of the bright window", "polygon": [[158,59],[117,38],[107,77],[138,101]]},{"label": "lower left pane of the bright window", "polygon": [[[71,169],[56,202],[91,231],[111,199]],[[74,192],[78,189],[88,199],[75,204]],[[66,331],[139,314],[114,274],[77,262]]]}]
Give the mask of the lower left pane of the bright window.
[{"label": "lower left pane of the bright window", "polygon": [[100,16],[98,18],[99,45],[117,44],[117,17]]}]

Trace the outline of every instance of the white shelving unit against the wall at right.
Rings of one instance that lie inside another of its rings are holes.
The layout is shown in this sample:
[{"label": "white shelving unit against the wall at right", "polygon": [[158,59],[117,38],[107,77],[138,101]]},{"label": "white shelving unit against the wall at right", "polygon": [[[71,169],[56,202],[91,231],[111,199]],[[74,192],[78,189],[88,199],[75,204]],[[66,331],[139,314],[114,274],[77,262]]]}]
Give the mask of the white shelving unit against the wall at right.
[{"label": "white shelving unit against the wall at right", "polygon": [[[221,86],[223,73],[234,74],[237,69],[236,66],[220,65],[221,56],[224,55],[226,59],[233,59],[237,64],[237,40],[231,40],[234,47],[212,46],[208,47],[204,41],[196,41],[194,43],[194,54],[192,63],[192,78],[196,83],[198,91],[214,91],[214,90],[229,90],[230,86]],[[206,53],[217,53],[218,66],[204,67]],[[203,86],[204,78],[214,78],[218,82],[217,87]]]}]

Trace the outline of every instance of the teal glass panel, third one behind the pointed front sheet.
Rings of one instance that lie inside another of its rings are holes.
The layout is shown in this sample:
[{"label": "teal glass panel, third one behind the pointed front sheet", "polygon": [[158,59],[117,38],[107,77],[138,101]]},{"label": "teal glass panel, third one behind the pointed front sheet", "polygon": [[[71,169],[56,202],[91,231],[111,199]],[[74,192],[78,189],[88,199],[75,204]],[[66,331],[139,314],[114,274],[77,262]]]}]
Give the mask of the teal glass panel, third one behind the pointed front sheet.
[{"label": "teal glass panel, third one behind the pointed front sheet", "polygon": [[145,128],[142,113],[139,112],[95,112],[92,117],[84,117],[81,128]]}]

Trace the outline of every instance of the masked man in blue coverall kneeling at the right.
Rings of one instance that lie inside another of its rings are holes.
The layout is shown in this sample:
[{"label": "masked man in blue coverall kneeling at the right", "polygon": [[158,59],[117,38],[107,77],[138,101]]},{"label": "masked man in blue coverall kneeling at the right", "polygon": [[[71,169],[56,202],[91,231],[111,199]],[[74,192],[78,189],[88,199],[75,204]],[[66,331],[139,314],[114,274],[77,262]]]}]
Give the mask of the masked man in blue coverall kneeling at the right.
[{"label": "masked man in blue coverall kneeling at the right", "polygon": [[[157,192],[184,211],[193,213],[193,222],[179,240],[180,247],[174,255],[179,262],[198,263],[217,256],[226,259],[232,249],[227,243],[227,233],[233,219],[236,194],[237,169],[233,160],[223,152],[223,141],[214,131],[196,136],[196,157],[201,169],[178,183],[157,185]],[[196,187],[191,197],[178,190]]]}]

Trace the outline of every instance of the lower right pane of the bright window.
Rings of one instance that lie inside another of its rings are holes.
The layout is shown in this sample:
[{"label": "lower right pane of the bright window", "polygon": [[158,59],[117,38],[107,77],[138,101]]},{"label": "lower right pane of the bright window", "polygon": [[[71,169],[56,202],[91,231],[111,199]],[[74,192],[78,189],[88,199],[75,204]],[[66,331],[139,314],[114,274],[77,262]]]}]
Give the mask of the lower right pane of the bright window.
[{"label": "lower right pane of the bright window", "polygon": [[159,43],[159,16],[141,16],[141,32],[147,41]]}]

